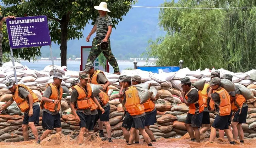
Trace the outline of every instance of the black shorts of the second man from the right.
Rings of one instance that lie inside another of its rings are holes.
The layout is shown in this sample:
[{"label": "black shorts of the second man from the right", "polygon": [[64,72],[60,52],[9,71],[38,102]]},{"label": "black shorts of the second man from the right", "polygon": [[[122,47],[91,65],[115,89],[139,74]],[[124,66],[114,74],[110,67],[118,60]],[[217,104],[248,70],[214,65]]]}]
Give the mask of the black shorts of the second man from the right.
[{"label": "black shorts of the second man from the right", "polygon": [[219,130],[229,129],[228,128],[229,126],[228,120],[230,119],[229,116],[230,115],[225,115],[225,116],[217,115],[216,118],[214,119],[212,127]]}]

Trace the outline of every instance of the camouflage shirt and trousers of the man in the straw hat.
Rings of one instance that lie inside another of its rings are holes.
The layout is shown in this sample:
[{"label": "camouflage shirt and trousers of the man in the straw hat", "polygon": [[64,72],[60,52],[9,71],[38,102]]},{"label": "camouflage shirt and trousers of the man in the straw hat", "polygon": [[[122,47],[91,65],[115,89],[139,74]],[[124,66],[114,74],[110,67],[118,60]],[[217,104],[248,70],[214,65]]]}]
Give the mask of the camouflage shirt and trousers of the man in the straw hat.
[{"label": "camouflage shirt and trousers of the man in the straw hat", "polygon": [[102,40],[105,38],[105,36],[107,35],[108,26],[113,25],[112,20],[109,16],[105,16],[105,17],[98,16],[96,18],[96,25],[97,25],[96,37],[92,41],[92,49],[88,56],[87,62],[93,63],[94,60],[102,52],[103,55],[107,58],[109,64],[114,68],[114,72],[117,73],[119,72],[119,67],[113,53],[111,52],[110,39],[108,38],[108,48],[106,50],[102,50],[100,49],[100,46],[96,46],[100,44]]}]

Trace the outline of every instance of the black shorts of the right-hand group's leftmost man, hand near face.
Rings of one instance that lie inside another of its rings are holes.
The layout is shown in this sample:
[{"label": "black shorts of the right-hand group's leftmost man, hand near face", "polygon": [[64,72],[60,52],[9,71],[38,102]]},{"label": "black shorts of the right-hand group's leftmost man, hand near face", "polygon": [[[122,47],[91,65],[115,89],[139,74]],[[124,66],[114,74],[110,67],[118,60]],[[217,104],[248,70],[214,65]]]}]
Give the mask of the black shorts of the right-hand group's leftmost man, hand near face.
[{"label": "black shorts of the right-hand group's leftmost man, hand near face", "polygon": [[192,127],[201,127],[202,120],[203,120],[203,112],[196,115],[188,113],[185,123],[191,124]]}]

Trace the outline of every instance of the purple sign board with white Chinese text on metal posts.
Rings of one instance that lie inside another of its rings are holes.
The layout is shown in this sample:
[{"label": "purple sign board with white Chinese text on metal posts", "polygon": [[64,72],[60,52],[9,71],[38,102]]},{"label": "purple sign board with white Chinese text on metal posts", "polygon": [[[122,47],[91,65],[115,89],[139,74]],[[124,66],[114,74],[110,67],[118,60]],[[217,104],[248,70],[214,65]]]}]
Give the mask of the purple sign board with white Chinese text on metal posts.
[{"label": "purple sign board with white Chinese text on metal posts", "polygon": [[11,49],[51,45],[46,16],[7,18],[6,25]]}]

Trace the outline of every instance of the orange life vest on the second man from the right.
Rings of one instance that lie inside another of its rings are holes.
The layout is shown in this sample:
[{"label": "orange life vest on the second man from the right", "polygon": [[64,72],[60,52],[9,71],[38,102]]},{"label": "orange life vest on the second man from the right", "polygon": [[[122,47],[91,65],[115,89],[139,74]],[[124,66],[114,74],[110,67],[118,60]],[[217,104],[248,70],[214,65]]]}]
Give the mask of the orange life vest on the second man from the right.
[{"label": "orange life vest on the second man from the right", "polygon": [[220,87],[218,90],[213,90],[213,93],[218,93],[220,97],[220,103],[214,102],[212,99],[210,101],[210,107],[214,109],[214,105],[217,105],[219,107],[219,115],[225,116],[230,115],[231,112],[231,104],[230,104],[230,96],[224,88]]}]

